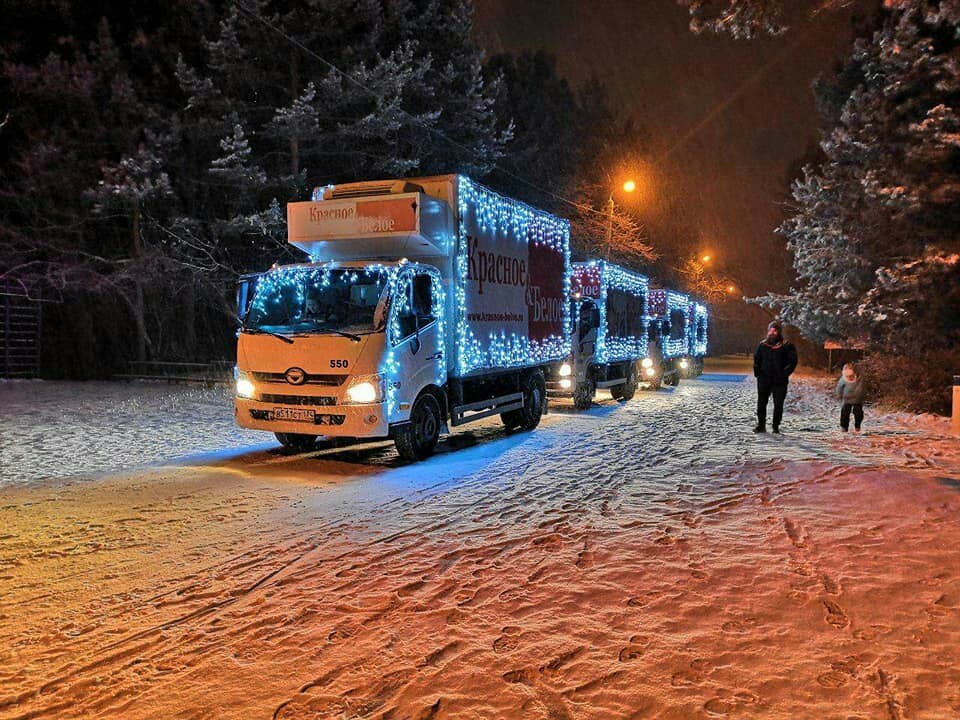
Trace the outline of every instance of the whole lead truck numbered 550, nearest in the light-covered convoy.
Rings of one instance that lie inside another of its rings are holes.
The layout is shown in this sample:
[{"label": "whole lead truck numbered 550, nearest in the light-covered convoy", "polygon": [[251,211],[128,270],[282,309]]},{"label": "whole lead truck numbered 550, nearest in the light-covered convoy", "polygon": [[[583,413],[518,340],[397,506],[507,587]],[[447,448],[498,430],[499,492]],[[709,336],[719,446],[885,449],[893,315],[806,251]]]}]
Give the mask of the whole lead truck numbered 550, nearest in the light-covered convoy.
[{"label": "whole lead truck numbered 550, nearest in the light-covered convoy", "polygon": [[393,438],[424,458],[448,425],[532,429],[570,353],[570,227],[460,175],[320,188],[287,206],[309,262],[242,308],[237,422],[286,446]]}]

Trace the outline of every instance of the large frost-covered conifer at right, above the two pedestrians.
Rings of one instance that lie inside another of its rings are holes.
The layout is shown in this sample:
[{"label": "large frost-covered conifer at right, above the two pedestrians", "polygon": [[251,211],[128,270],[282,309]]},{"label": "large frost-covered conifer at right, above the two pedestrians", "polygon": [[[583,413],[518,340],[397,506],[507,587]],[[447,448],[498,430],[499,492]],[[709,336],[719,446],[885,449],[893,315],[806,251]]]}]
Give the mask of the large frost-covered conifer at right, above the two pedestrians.
[{"label": "large frost-covered conifer at right, above the two pedestrians", "polygon": [[960,2],[903,2],[819,86],[824,110],[846,99],[780,228],[800,284],[760,299],[810,337],[960,344],[958,52]]}]

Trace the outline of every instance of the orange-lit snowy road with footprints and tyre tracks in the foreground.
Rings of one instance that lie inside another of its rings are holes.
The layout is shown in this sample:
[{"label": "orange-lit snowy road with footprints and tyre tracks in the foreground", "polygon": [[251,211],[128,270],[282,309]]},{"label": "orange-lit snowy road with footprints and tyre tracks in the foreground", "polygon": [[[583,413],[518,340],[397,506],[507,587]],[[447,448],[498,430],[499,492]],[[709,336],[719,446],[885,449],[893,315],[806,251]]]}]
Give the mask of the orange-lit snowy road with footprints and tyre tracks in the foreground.
[{"label": "orange-lit snowy road with footprints and tyre tracks in the foreground", "polygon": [[0,717],[956,717],[958,443],[822,386],[0,490]]}]

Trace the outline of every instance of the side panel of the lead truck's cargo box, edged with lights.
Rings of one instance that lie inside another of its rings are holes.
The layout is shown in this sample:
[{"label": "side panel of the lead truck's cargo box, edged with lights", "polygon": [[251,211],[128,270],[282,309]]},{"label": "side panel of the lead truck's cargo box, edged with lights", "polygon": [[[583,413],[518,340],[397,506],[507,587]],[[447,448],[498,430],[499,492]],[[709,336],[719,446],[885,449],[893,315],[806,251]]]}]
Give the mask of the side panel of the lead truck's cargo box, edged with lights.
[{"label": "side panel of the lead truck's cargo box, edged with lights", "polygon": [[454,377],[570,352],[570,224],[469,178],[457,183]]}]

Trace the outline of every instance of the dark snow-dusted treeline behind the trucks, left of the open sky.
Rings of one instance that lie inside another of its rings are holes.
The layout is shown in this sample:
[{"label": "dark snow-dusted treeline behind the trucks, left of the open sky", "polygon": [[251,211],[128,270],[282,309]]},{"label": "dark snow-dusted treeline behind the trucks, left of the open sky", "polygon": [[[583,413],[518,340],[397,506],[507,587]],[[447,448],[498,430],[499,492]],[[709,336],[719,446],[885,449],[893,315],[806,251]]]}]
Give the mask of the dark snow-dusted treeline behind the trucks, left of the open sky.
[{"label": "dark snow-dusted treeline behind the trucks, left of the open sky", "polygon": [[543,54],[485,58],[468,0],[0,7],[0,276],[55,301],[46,375],[229,357],[236,277],[300,259],[284,206],[332,182],[463,172],[657,271],[629,207],[606,240],[642,127]]}]

